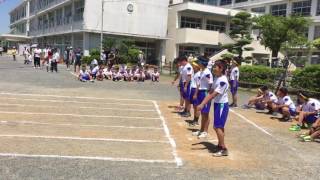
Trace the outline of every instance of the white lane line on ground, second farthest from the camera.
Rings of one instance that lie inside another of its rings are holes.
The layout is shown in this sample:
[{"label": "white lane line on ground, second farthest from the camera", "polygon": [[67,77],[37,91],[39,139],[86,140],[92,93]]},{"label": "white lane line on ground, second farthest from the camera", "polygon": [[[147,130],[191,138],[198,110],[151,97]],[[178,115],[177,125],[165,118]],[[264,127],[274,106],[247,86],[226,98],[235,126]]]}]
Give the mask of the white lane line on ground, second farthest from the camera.
[{"label": "white lane line on ground, second farthest from the camera", "polygon": [[[59,106],[35,106],[35,105],[26,105],[26,104],[11,104],[11,103],[0,103],[0,106],[18,106],[18,107],[41,107],[41,108],[60,108]],[[97,110],[118,110],[124,111],[123,108],[101,108],[101,107],[91,107],[91,106],[69,106],[68,108],[77,108],[77,109],[97,109]],[[155,110],[143,110],[143,109],[126,109],[125,111],[139,111],[139,112],[156,112]]]}]

